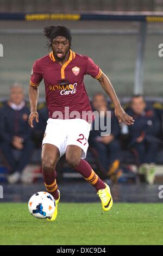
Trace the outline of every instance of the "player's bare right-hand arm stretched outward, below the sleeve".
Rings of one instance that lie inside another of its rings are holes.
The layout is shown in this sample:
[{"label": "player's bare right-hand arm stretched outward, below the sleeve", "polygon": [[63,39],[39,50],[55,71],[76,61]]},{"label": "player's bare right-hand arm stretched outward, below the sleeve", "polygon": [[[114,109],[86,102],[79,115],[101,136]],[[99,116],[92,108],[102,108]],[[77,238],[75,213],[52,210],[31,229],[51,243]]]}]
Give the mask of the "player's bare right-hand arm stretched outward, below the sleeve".
[{"label": "player's bare right-hand arm stretched outward, below the sleeve", "polygon": [[118,100],[118,97],[115,93],[114,88],[112,87],[112,84],[109,80],[109,78],[102,72],[101,76],[97,78],[99,83],[101,83],[101,86],[105,90],[105,92],[110,97],[111,101],[114,103],[115,107],[115,115],[118,118],[118,121],[123,121],[124,123],[131,125],[134,124],[134,119],[128,115],[123,108],[121,107],[121,103]]}]

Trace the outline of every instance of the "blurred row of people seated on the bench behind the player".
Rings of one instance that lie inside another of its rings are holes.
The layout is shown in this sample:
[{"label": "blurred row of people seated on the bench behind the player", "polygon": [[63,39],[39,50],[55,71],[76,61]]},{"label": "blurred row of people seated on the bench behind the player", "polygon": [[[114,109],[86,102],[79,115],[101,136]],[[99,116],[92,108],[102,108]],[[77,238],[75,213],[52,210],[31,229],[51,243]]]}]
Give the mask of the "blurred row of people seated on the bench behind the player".
[{"label": "blurred row of people seated on the bench behind the player", "polygon": [[[146,100],[141,94],[131,96],[126,102],[124,100],[124,109],[135,119],[132,126],[118,123],[112,103],[105,94],[93,94],[93,111],[103,113],[99,119],[106,119],[107,111],[111,112],[111,134],[101,136],[103,130],[95,130],[92,123],[87,161],[103,179],[136,182],[138,174],[140,180],[152,184],[156,163],[163,164],[163,105]],[[48,119],[45,102],[39,103],[38,112],[39,123],[31,129],[28,125],[29,103],[25,100],[23,86],[12,84],[9,99],[1,102],[0,108],[1,180],[9,183],[36,182],[41,177],[41,143]],[[60,181],[64,175],[71,176],[73,172],[63,156],[58,166]],[[22,173],[30,176],[29,181]]]}]

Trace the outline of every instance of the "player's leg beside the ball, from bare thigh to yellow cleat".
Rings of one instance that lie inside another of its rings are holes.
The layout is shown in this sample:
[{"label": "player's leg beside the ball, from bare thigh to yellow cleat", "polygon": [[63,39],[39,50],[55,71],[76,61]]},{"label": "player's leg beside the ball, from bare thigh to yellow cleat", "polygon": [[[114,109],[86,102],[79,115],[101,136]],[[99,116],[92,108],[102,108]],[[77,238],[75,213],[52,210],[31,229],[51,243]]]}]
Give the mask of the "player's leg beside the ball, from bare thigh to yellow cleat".
[{"label": "player's leg beside the ball, from bare thigh to yellow cleat", "polygon": [[42,172],[43,179],[45,181],[45,186],[48,193],[52,194],[55,199],[56,207],[54,214],[51,218],[48,218],[48,221],[54,221],[58,213],[58,203],[60,199],[60,192],[58,190],[55,171],[55,166],[59,160],[60,153],[59,149],[52,144],[43,144],[42,146]]}]

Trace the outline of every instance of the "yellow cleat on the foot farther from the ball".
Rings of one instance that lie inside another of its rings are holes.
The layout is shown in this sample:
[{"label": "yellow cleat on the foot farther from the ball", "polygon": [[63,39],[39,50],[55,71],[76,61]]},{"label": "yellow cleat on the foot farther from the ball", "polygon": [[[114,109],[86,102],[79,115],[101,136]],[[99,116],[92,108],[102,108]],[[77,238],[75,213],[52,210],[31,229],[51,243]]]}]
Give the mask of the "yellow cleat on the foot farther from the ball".
[{"label": "yellow cleat on the foot farther from the ball", "polygon": [[113,200],[110,193],[110,187],[105,184],[106,187],[103,190],[98,190],[97,194],[101,199],[102,208],[104,211],[109,211],[112,207]]}]

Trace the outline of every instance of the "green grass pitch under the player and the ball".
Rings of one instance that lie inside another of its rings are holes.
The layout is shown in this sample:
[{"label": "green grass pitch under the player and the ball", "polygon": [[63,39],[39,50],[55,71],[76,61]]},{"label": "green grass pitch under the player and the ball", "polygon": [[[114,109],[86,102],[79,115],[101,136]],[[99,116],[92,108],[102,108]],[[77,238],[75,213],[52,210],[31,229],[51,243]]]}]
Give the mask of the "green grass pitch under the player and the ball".
[{"label": "green grass pitch under the player and the ball", "polygon": [[0,203],[1,245],[162,245],[162,204],[60,203],[55,222],[38,220],[27,203]]}]

